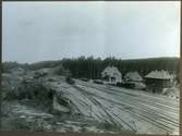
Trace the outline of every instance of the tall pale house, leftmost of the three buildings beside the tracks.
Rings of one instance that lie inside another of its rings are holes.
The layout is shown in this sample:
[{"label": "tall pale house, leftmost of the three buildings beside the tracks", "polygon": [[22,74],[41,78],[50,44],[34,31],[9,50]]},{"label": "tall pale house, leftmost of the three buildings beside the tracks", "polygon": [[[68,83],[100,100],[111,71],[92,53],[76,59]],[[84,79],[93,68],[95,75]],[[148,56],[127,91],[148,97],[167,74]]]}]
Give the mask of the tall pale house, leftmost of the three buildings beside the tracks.
[{"label": "tall pale house, leftmost of the three buildings beside the tracks", "polygon": [[116,66],[107,66],[101,72],[101,77],[109,83],[118,83],[122,81],[122,74]]}]

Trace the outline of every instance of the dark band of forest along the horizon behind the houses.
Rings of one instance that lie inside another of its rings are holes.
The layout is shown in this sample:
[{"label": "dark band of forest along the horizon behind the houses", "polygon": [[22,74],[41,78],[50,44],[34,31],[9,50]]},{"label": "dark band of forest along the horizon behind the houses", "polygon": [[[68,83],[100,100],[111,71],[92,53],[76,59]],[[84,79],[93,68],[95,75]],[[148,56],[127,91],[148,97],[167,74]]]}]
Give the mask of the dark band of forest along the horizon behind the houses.
[{"label": "dark band of forest along the horizon behind the houses", "polygon": [[41,61],[36,63],[17,63],[17,62],[3,62],[2,72],[9,72],[14,67],[22,67],[25,70],[39,70],[44,67],[61,66],[71,72],[72,77],[80,78],[100,78],[101,71],[108,66],[113,65],[124,75],[128,72],[137,71],[142,76],[145,76],[150,71],[166,70],[170,74],[179,76],[179,58],[148,58],[148,59],[132,59],[122,60],[114,57],[100,59],[94,57],[80,57],[73,59],[61,59],[54,61]]}]

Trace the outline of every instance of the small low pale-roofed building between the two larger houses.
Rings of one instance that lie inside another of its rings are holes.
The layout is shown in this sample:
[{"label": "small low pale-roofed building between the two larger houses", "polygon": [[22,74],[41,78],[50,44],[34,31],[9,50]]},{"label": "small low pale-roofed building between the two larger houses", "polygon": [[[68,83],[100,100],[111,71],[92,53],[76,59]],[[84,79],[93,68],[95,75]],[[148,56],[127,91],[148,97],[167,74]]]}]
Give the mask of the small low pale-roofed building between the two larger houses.
[{"label": "small low pale-roofed building between the two larger houses", "polygon": [[143,82],[142,76],[138,72],[128,72],[124,76],[125,82]]}]

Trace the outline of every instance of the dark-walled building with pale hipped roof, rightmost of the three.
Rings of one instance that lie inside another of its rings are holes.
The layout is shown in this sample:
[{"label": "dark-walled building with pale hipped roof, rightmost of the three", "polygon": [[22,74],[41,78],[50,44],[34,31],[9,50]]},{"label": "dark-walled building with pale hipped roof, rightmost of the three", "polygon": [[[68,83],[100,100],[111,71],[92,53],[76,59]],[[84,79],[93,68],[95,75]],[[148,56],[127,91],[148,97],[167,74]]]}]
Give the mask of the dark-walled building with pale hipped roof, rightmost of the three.
[{"label": "dark-walled building with pale hipped roof, rightmost of the three", "polygon": [[171,76],[167,71],[151,71],[145,76],[146,89],[161,92],[163,88],[171,87]]}]

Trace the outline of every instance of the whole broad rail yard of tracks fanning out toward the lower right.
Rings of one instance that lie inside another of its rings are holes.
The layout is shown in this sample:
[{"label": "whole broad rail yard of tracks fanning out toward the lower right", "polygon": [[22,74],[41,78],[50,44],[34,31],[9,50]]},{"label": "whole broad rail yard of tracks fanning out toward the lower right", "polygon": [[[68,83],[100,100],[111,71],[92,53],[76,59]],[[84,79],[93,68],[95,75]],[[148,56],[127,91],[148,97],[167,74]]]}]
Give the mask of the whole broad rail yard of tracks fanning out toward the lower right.
[{"label": "whole broad rail yard of tracks fanning out toward the lower right", "polygon": [[70,88],[60,87],[59,84],[53,84],[51,88],[61,91],[81,114],[98,122],[120,125],[138,134],[142,127],[159,128],[162,134],[179,131],[178,100],[77,81]]}]

